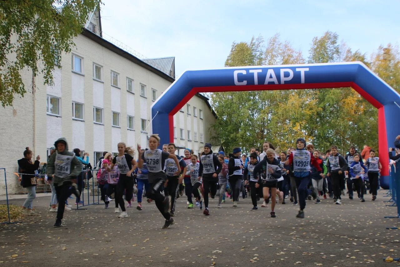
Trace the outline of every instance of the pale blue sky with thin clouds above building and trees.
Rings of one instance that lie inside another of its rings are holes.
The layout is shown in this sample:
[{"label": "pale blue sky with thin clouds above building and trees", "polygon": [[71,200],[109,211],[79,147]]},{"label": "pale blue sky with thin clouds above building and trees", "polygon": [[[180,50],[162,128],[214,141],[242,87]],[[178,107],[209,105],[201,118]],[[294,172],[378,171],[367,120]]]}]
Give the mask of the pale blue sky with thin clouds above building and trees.
[{"label": "pale blue sky with thin clouds above building and trees", "polygon": [[400,1],[103,0],[102,30],[147,58],[174,56],[176,74],[224,67],[232,42],[280,33],[305,58],[330,30],[368,58],[400,43]]}]

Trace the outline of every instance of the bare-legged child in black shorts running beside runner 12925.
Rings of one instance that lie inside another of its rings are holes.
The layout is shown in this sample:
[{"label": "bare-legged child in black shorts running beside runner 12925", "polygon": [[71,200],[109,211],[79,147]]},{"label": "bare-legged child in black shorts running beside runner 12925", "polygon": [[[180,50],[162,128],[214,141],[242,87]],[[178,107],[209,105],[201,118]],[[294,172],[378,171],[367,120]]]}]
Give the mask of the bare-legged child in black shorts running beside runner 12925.
[{"label": "bare-legged child in black shorts running beside runner 12925", "polygon": [[262,186],[262,196],[264,197],[262,207],[267,206],[271,190],[270,214],[272,218],[275,218],[276,186],[278,184],[278,179],[282,176],[282,171],[278,160],[275,158],[275,151],[272,148],[267,149],[264,159],[254,167],[253,176],[258,177],[255,188]]}]

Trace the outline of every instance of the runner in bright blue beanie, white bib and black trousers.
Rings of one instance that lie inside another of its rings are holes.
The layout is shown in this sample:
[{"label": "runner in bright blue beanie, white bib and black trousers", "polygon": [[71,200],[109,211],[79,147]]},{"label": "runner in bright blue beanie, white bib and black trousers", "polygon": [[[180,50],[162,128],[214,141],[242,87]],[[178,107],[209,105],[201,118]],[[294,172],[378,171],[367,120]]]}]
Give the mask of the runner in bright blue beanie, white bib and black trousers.
[{"label": "runner in bright blue beanie, white bib and black trousers", "polygon": [[243,161],[240,158],[240,153],[242,149],[235,147],[233,149],[233,154],[230,154],[228,171],[229,171],[229,183],[232,187],[232,198],[233,206],[238,206],[240,187],[242,186],[243,172],[244,168]]}]

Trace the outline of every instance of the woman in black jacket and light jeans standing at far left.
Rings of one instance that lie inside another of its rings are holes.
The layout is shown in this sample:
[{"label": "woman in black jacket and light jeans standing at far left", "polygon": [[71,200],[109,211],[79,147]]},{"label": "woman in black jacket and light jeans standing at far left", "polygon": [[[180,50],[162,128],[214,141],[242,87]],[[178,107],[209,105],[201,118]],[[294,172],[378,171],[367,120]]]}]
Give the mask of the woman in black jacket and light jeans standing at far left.
[{"label": "woman in black jacket and light jeans standing at far left", "polygon": [[23,188],[28,190],[28,196],[20,208],[20,212],[25,215],[35,216],[39,215],[32,210],[32,202],[36,198],[36,178],[35,171],[39,168],[40,156],[36,157],[34,163],[32,163],[32,151],[26,148],[24,151],[24,158],[18,160],[18,166],[20,168],[21,185]]}]

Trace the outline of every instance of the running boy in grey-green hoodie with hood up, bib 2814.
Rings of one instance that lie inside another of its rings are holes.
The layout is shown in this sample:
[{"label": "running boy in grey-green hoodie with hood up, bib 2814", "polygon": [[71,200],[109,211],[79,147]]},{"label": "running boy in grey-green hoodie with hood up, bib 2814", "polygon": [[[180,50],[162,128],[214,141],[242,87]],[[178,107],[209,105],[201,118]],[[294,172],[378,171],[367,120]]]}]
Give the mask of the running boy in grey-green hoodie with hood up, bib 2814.
[{"label": "running boy in grey-green hoodie with hood up, bib 2814", "polygon": [[54,146],[56,152],[48,159],[46,172],[48,180],[54,183],[58,200],[57,220],[54,227],[61,227],[65,201],[71,194],[75,194],[77,197],[80,195],[75,183],[82,170],[82,163],[74,153],[68,151],[68,143],[65,138],[59,138]]}]

